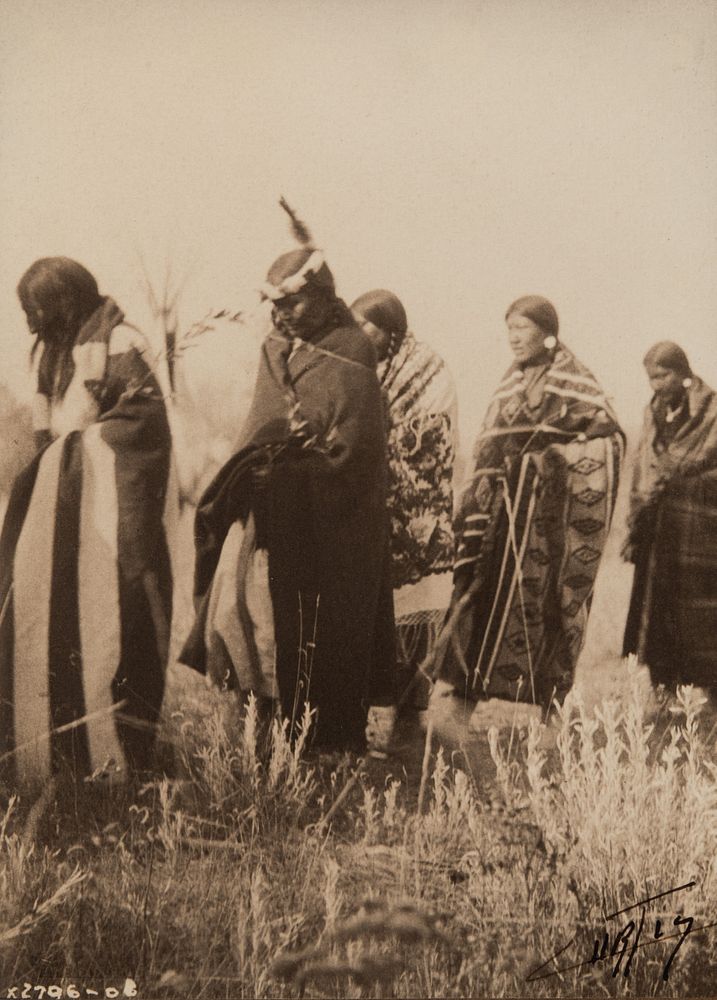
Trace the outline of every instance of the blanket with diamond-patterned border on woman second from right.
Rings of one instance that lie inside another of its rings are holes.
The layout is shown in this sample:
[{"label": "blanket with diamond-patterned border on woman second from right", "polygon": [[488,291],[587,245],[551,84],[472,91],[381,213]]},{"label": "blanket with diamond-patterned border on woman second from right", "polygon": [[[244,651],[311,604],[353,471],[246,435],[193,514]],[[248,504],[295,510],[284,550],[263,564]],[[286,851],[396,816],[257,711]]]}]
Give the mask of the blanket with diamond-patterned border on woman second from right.
[{"label": "blanket with diamond-patterned border on woman second from right", "polygon": [[572,684],[623,438],[595,378],[564,346],[537,407],[525,381],[509,369],[476,442],[433,671],[473,699],[547,707]]}]

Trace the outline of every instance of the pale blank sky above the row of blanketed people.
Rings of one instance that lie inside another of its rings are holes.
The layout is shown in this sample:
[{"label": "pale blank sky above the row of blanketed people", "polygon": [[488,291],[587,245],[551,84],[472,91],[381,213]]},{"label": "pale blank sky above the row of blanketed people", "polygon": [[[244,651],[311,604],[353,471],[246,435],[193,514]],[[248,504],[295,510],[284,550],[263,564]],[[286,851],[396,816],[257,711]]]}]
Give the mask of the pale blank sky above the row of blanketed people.
[{"label": "pale blank sky above the row of blanketed people", "polygon": [[284,194],[351,301],[395,291],[471,438],[548,296],[632,426],[677,340],[717,382],[713,0],[3,0],[2,378],[30,391],[15,286],[75,257],[146,323],[251,308],[292,246]]}]

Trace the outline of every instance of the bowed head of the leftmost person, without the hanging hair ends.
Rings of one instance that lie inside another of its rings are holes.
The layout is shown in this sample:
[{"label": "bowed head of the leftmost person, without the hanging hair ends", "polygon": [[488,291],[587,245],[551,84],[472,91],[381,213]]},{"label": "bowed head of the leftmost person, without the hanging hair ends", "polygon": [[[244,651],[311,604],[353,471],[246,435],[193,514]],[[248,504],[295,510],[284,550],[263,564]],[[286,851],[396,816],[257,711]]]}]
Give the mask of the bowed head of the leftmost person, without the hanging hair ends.
[{"label": "bowed head of the leftmost person, without the hanging hair ends", "polygon": [[82,324],[102,302],[92,274],[69,257],[42,257],[17,286],[30,332],[38,341],[74,342]]}]

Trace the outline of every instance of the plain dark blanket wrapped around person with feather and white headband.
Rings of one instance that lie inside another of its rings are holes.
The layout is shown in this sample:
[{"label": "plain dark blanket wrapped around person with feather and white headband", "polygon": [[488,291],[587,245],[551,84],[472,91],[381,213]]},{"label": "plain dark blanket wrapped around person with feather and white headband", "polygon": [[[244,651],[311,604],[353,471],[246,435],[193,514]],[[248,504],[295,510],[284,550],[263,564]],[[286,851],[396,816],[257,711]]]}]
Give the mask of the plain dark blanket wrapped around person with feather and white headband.
[{"label": "plain dark blanket wrapped around person with feather and white headband", "polygon": [[295,718],[308,700],[317,742],[357,746],[369,704],[393,698],[383,404],[357,328],[294,345],[289,357],[291,341],[267,337],[237,452],[199,505],[198,616],[181,659],[206,671],[212,579],[229,528],[251,511],[269,557],[283,713]]}]

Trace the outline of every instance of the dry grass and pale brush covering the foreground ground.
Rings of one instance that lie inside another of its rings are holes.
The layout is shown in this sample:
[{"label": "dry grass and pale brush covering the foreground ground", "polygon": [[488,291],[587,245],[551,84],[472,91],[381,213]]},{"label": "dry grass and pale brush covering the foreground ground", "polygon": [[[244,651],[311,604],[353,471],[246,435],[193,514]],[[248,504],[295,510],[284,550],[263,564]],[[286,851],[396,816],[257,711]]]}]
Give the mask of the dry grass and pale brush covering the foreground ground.
[{"label": "dry grass and pale brush covering the foreground ground", "polygon": [[0,996],[717,995],[714,713],[618,659],[619,534],[548,728],[444,706],[318,756],[174,665],[164,774],[5,794]]}]

